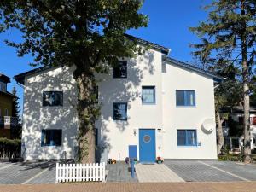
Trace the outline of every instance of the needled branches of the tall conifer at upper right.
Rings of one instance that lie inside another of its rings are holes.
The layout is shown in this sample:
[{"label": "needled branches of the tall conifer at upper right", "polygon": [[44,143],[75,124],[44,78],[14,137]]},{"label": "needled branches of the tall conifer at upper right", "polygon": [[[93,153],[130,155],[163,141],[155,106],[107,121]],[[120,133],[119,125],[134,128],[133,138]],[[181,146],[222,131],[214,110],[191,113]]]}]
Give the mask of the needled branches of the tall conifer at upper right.
[{"label": "needled branches of the tall conifer at upper right", "polygon": [[[191,45],[196,49],[195,56],[216,70],[235,65],[241,74],[241,35],[246,34],[248,65],[253,76],[256,55],[255,7],[254,0],[214,0],[206,7],[208,20],[190,28],[201,38],[201,44]],[[243,15],[242,9],[245,10]]]}]

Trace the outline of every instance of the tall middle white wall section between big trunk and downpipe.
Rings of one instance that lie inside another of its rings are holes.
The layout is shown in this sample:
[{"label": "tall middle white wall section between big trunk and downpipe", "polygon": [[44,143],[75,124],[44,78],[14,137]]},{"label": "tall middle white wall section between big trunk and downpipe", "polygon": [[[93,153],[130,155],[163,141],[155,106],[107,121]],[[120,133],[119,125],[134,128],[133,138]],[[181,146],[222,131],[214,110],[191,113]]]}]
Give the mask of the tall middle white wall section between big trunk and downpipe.
[{"label": "tall middle white wall section between big trunk and downpipe", "polygon": [[[125,160],[128,146],[137,145],[139,129],[159,129],[162,126],[161,98],[161,53],[149,50],[143,56],[130,59],[127,63],[127,79],[113,79],[112,70],[108,75],[99,75],[99,102],[102,116],[96,122],[101,129],[102,160],[114,158]],[[155,86],[156,104],[143,105],[142,86]],[[127,102],[127,121],[113,120],[113,102]],[[134,135],[136,131],[136,135]]]}]

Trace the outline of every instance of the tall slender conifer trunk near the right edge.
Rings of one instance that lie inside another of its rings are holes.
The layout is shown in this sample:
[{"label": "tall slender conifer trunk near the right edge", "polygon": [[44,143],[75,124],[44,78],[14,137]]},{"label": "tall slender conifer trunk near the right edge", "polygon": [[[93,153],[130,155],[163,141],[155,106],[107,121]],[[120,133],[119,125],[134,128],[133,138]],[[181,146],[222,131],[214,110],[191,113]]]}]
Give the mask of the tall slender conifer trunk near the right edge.
[{"label": "tall slender conifer trunk near the right edge", "polygon": [[[244,0],[241,0],[241,15],[245,15]],[[243,110],[244,110],[244,162],[250,162],[251,138],[250,138],[250,96],[249,96],[249,69],[247,65],[247,35],[246,21],[244,20],[241,30],[241,60],[243,80]]]}]

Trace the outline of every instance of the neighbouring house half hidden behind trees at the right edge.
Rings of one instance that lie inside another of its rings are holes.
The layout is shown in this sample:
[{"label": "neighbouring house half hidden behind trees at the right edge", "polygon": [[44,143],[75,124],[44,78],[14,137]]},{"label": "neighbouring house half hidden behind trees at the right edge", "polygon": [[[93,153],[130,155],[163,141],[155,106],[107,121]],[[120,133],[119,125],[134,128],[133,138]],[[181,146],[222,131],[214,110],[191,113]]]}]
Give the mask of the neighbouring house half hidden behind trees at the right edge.
[{"label": "neighbouring house half hidden behind trees at the right edge", "polygon": [[[223,109],[223,113],[225,109]],[[232,108],[232,113],[230,114],[231,119],[236,123],[236,125],[229,125],[228,120],[223,123],[224,132],[224,148],[230,148],[233,151],[240,152],[243,146],[243,137],[233,136],[230,137],[230,129],[235,129],[236,126],[243,129],[243,107],[235,106]],[[256,148],[256,108],[251,106],[250,108],[250,136],[251,136],[251,149]]]}]

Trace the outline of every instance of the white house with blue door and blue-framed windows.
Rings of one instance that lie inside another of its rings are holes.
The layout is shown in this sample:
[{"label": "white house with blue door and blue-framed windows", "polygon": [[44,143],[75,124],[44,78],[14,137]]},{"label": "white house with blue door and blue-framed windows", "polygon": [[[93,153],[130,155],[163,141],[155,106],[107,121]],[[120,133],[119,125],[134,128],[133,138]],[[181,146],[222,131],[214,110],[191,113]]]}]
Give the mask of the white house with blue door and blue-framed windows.
[{"label": "white house with blue door and blue-framed windows", "polygon": [[[108,74],[96,74],[102,104],[96,122],[97,159],[125,160],[129,145],[137,146],[142,162],[157,156],[216,159],[214,82],[221,78],[168,58],[169,49],[137,40],[151,49],[120,60]],[[76,158],[73,69],[41,67],[15,76],[24,86],[25,160]]]}]

